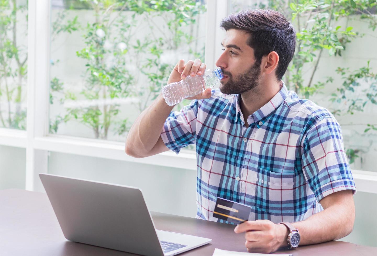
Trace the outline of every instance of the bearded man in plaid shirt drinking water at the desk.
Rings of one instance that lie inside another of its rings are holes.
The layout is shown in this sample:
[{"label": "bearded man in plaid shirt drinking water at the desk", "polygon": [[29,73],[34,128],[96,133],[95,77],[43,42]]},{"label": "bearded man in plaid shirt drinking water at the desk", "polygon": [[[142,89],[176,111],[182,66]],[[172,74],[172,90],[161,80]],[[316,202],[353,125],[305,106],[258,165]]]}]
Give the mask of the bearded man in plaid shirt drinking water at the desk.
[{"label": "bearded man in plaid shirt drinking water at the desk", "polygon": [[[250,205],[249,221],[234,229],[245,232],[248,251],[271,253],[348,235],[356,187],[340,126],[281,80],[296,45],[291,23],[276,11],[248,10],[220,26],[226,30],[216,62],[224,73],[220,88],[206,89],[180,112],[171,112],[160,95],[133,124],[126,153],[178,154],[195,143],[196,217],[224,222],[212,216],[216,197]],[[205,68],[199,59],[180,60],[168,83]],[[300,239],[292,235],[296,229]]]}]

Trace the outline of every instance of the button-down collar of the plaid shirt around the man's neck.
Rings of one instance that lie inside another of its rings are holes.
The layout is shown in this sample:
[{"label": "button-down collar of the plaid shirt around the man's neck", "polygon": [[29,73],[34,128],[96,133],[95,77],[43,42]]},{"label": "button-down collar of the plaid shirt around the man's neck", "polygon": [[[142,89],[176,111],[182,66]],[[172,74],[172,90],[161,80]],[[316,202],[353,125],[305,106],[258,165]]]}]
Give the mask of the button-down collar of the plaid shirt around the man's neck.
[{"label": "button-down collar of the plaid shirt around the man's neck", "polygon": [[[267,121],[270,114],[272,114],[280,104],[287,98],[288,96],[288,89],[285,86],[285,83],[280,80],[280,91],[270,100],[268,101],[262,108],[258,109],[252,114],[251,120],[256,123],[256,126],[259,128],[261,127],[265,121]],[[242,123],[245,123],[244,115],[242,115],[239,100],[241,96],[237,94],[236,96],[236,118],[240,118]]]}]

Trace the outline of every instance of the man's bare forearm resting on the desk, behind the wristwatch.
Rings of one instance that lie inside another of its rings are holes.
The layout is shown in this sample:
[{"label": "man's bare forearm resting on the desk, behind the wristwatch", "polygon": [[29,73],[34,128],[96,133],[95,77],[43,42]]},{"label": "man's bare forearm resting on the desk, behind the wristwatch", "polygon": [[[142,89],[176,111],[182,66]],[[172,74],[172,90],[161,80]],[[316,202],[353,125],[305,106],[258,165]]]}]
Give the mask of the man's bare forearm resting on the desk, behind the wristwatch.
[{"label": "man's bare forearm resting on the desk, behind the wristwatch", "polygon": [[333,204],[307,220],[293,223],[293,226],[299,230],[300,245],[317,244],[340,239],[351,233],[354,219],[354,208]]}]

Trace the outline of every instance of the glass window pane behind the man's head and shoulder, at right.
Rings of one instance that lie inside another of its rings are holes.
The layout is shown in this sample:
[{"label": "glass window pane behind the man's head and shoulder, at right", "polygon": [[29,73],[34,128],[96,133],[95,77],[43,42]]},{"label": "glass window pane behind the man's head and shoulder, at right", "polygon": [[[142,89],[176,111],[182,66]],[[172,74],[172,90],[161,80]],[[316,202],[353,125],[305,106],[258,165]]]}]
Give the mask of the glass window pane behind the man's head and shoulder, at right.
[{"label": "glass window pane behind the man's head and shoulder, at right", "polygon": [[232,0],[230,12],[272,9],[292,22],[296,52],[285,84],[334,114],[352,169],[377,171],[377,4],[352,3]]}]

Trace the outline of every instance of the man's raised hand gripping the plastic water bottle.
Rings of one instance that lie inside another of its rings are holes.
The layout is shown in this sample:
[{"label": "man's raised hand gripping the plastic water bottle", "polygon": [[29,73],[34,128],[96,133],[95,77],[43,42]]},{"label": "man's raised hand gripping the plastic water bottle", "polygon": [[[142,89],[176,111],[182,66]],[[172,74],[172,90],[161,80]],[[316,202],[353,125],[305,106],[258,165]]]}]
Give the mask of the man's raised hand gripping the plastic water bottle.
[{"label": "man's raised hand gripping the plastic water bottle", "polygon": [[[184,59],[180,59],[173,68],[172,73],[170,73],[167,83],[179,82],[186,79],[187,76],[202,76],[205,72],[206,65],[202,63],[200,59],[195,59],[195,61],[188,61],[185,64]],[[201,100],[204,98],[211,97],[211,88],[205,89],[201,94],[195,95],[194,97],[187,98],[188,100]]]}]

